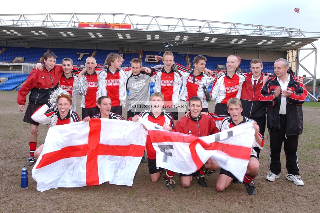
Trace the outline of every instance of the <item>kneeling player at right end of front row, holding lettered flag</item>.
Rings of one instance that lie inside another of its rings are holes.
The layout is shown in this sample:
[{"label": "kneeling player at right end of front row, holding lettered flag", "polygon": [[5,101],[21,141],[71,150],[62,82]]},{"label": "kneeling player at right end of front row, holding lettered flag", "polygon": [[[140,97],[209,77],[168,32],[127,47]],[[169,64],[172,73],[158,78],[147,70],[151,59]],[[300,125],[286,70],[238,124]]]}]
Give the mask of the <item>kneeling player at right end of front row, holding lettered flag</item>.
[{"label": "kneeling player at right end of front row, holding lettered flag", "polygon": [[[256,188],[254,187],[253,179],[256,177],[259,171],[259,160],[257,158],[257,152],[254,151],[253,147],[259,146],[263,147],[264,138],[259,133],[259,126],[254,120],[246,118],[244,115],[241,115],[242,104],[238,98],[231,98],[227,102],[229,117],[225,118],[221,122],[220,131],[229,129],[233,126],[243,124],[245,122],[253,122],[253,127],[256,130],[254,134],[254,140],[251,148],[251,156],[247,166],[247,171],[243,179],[243,184],[247,189],[247,192],[251,195],[256,194]],[[217,180],[216,189],[219,192],[222,192],[231,185],[232,181],[237,181],[236,177],[231,174],[231,172],[221,169],[220,175]]]}]

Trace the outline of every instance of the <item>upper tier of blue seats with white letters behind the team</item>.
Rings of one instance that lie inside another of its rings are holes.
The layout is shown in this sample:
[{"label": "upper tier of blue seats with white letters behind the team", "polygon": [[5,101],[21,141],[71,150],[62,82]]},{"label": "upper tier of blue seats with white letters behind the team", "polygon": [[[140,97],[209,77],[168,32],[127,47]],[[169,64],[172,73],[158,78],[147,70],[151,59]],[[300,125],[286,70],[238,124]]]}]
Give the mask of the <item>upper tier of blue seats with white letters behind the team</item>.
[{"label": "upper tier of blue seats with white letters behind the team", "polygon": [[[0,62],[11,63],[15,57],[24,57],[23,63],[37,63],[37,61],[42,57],[42,55],[47,51],[47,48],[24,48],[24,47],[0,47],[7,48],[3,53],[0,54]],[[57,62],[65,57],[70,57],[75,65],[84,65],[85,59],[90,57],[92,53],[95,51],[94,49],[65,49],[65,48],[52,48],[52,52],[54,52],[58,56]],[[118,50],[104,50],[97,49],[95,53],[95,59],[99,65],[104,65],[106,61],[106,57],[109,53],[114,52],[124,57],[123,67],[129,67],[130,61],[132,58],[139,57],[139,53],[124,53],[119,52]],[[164,52],[162,51],[144,51],[142,57],[142,66],[150,67],[158,64],[163,64],[162,61],[156,62],[154,60],[154,56],[160,55],[162,56]],[[177,52],[173,52],[175,62],[183,65],[187,65],[186,56],[190,57],[190,62],[192,65],[193,59],[196,57],[194,54],[179,54]],[[216,70],[217,65],[226,64],[226,57],[211,57],[207,56],[206,67],[211,70]],[[243,59],[240,65],[240,68],[244,72],[250,72],[250,61],[247,59]],[[273,62],[263,62],[263,71],[266,73],[274,73],[273,71]]]}]

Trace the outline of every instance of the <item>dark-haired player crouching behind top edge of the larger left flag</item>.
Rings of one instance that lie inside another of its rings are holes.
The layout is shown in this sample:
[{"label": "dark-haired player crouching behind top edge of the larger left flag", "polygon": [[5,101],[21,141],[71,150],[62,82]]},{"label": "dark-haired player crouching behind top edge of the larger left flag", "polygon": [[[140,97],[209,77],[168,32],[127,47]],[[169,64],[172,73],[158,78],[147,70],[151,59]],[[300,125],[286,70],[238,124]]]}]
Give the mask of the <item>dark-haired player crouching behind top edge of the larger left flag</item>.
[{"label": "dark-haired player crouching behind top edge of the larger left flag", "polygon": [[[98,98],[98,108],[100,109],[99,114],[92,116],[92,118],[109,118],[109,119],[118,119],[125,120],[124,117],[116,113],[111,112],[111,98],[108,96],[101,96]],[[87,116],[83,121],[90,121],[90,117]]]}]

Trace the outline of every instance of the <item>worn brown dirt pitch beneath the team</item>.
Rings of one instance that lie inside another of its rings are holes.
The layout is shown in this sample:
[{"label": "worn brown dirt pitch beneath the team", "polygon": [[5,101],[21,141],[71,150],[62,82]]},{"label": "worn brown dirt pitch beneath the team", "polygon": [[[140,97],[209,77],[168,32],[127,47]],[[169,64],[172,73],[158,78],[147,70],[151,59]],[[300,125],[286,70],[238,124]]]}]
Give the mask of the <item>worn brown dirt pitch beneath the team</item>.
[{"label": "worn brown dirt pitch beneath the team", "polygon": [[[166,189],[163,179],[152,183],[147,164],[140,164],[132,187],[108,183],[80,188],[36,190],[31,177],[32,166],[27,166],[29,125],[22,122],[23,114],[15,102],[17,92],[0,91],[0,212],[319,212],[320,207],[320,134],[318,108],[304,107],[304,132],[300,136],[298,157],[304,187],[285,179],[285,156],[282,155],[280,178],[270,183],[265,180],[269,165],[268,132],[266,145],[260,154],[260,171],[255,179],[257,194],[249,195],[243,184],[232,184],[218,193],[215,183],[219,172],[206,176],[208,187],[198,185],[194,178],[189,188],[180,185],[175,191]],[[80,100],[77,102],[80,103]],[[209,110],[214,110],[211,102]],[[81,108],[77,106],[77,111]],[[123,110],[126,117],[126,110]],[[80,114],[80,113],[79,113]],[[179,115],[181,117],[181,115]],[[40,125],[38,146],[47,132]],[[20,187],[21,168],[28,167],[28,187]]]}]

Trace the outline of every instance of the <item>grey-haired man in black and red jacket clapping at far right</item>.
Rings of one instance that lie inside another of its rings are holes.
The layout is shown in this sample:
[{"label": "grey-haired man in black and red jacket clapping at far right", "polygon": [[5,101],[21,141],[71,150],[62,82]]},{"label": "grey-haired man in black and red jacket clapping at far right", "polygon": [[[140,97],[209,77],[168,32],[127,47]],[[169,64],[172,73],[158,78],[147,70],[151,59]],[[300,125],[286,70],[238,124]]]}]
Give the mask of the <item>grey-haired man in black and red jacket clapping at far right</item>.
[{"label": "grey-haired man in black and red jacket clapping at far right", "polygon": [[276,76],[269,79],[261,89],[260,101],[267,105],[267,127],[270,131],[270,171],[267,181],[279,178],[281,171],[280,153],[282,141],[288,170],[286,179],[304,186],[299,176],[297,148],[303,128],[302,104],[307,90],[288,72],[289,62],[284,58],[274,64]]}]

